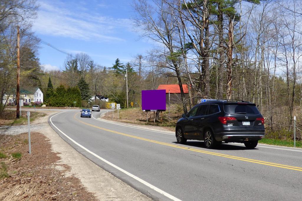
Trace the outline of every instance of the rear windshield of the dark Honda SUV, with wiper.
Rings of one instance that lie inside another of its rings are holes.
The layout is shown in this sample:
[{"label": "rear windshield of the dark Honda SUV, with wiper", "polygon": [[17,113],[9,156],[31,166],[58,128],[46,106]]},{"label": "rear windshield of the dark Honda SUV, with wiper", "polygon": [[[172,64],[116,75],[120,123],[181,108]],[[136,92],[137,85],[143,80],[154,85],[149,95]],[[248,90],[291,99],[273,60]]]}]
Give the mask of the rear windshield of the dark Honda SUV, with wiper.
[{"label": "rear windshield of the dark Honda SUV, with wiper", "polygon": [[223,109],[226,113],[231,115],[259,115],[260,112],[255,105],[223,105]]}]

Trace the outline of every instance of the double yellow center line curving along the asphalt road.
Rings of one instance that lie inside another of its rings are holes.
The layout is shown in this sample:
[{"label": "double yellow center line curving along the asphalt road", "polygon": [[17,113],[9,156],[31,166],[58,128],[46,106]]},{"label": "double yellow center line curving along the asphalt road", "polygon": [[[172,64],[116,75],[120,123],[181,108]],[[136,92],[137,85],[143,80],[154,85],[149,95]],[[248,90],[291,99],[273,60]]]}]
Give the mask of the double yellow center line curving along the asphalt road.
[{"label": "double yellow center line curving along the asphalt road", "polygon": [[[76,119],[76,115],[74,115],[75,119]],[[285,169],[296,170],[296,171],[301,171],[302,172],[302,168],[300,168],[300,167],[295,167],[295,166],[290,166],[290,165],[282,165],[282,164],[271,163],[271,162],[266,162],[266,161],[259,161],[259,160],[248,159],[248,158],[243,158],[243,157],[238,157],[238,156],[233,156],[233,155],[226,155],[226,154],[220,154],[220,153],[216,153],[216,152],[209,152],[209,151],[200,150],[200,149],[193,149],[193,148],[189,148],[189,147],[178,146],[178,145],[174,145],[174,144],[159,142],[159,141],[156,141],[156,140],[149,140],[149,139],[146,139],[146,138],[143,138],[143,137],[137,137],[137,136],[134,136],[134,135],[129,135],[129,134],[126,134],[126,133],[120,133],[120,132],[117,132],[117,131],[114,131],[114,130],[109,130],[109,129],[106,129],[106,128],[98,127],[98,126],[95,126],[95,125],[92,125],[92,124],[88,124],[88,123],[86,123],[84,121],[81,121],[79,119],[76,119],[76,120],[83,123],[83,124],[86,124],[88,126],[95,127],[95,128],[101,129],[101,130],[106,130],[106,131],[111,132],[111,133],[116,133],[116,134],[124,135],[124,136],[127,136],[127,137],[132,137],[132,138],[135,138],[135,139],[144,140],[144,141],[148,141],[148,142],[152,142],[152,143],[156,143],[156,144],[171,146],[171,147],[178,148],[178,149],[186,149],[188,151],[193,151],[193,152],[216,155],[216,156],[229,158],[229,159],[236,159],[236,160],[240,160],[240,161],[258,163],[258,164],[262,164],[262,165],[268,165],[268,166],[273,166],[273,167],[278,167],[278,168],[285,168]]]}]

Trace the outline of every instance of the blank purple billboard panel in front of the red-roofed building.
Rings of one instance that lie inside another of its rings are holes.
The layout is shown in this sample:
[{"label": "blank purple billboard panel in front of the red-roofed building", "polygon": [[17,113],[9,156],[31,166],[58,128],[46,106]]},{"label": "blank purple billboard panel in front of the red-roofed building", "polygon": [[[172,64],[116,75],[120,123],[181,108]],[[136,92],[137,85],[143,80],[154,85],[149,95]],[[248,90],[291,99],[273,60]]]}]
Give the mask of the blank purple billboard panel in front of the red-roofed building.
[{"label": "blank purple billboard panel in front of the red-roofed building", "polygon": [[143,111],[166,111],[166,90],[142,90]]}]

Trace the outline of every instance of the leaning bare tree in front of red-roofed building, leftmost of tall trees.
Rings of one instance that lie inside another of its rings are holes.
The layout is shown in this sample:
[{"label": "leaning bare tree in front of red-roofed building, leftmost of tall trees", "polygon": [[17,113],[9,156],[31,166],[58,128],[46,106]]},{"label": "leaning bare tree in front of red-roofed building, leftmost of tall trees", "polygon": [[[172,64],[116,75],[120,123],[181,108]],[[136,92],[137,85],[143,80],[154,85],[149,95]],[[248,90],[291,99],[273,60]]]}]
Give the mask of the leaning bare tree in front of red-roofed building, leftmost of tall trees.
[{"label": "leaning bare tree in front of red-roofed building, leftmost of tall trees", "polygon": [[179,65],[179,54],[175,50],[175,18],[173,16],[173,9],[160,0],[154,0],[152,5],[148,4],[146,0],[138,0],[134,2],[134,9],[137,17],[134,19],[137,27],[143,32],[143,36],[149,37],[164,46],[162,55],[168,64],[166,68],[175,71],[178,85],[182,97],[182,105],[184,113],[187,113],[187,106],[185,102],[185,94],[182,87],[181,71]]}]

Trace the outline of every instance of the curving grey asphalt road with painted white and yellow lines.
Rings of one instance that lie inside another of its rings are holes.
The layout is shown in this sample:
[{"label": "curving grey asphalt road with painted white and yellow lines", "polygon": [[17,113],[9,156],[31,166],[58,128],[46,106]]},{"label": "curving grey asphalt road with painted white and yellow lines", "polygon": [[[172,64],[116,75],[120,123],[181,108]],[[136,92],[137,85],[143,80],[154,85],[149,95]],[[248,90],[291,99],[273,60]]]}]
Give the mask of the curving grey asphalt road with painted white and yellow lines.
[{"label": "curving grey asphalt road with painted white and yellow lines", "polygon": [[[101,112],[92,112],[97,118]],[[302,149],[229,143],[176,143],[174,134],[80,118],[50,117],[77,151],[132,187],[159,200],[302,200]]]}]

